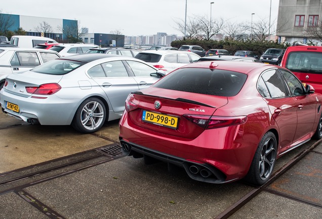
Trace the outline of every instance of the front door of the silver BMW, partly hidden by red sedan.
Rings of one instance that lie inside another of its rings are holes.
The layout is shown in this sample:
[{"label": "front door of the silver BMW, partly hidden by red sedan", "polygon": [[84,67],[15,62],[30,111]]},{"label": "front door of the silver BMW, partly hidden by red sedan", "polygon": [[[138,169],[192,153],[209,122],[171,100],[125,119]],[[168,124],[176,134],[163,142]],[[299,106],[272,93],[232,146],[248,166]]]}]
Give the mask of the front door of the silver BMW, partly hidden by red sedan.
[{"label": "front door of the silver BMW, partly hidden by red sedan", "polygon": [[151,73],[155,73],[157,70],[145,63],[127,60],[126,63],[131,68],[133,79],[137,82],[139,90],[150,87],[156,81],[157,77],[150,76]]}]

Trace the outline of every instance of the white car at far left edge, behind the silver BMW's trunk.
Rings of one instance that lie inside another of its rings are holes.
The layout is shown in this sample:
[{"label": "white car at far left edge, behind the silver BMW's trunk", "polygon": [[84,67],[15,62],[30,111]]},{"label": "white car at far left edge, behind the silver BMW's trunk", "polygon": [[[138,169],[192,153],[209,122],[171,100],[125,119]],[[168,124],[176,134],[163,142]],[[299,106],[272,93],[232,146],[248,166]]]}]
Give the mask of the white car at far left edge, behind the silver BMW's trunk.
[{"label": "white car at far left edge, behind the silver BMW's trunk", "polygon": [[50,60],[60,58],[55,52],[44,49],[1,47],[0,48],[0,90],[6,77],[14,72],[30,70]]}]

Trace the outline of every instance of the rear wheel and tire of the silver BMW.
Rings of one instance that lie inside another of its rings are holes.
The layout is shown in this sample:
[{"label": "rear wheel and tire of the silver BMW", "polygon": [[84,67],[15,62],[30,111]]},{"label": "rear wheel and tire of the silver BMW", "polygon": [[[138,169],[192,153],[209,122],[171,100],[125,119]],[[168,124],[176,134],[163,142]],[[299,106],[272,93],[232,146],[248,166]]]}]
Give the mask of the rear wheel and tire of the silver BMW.
[{"label": "rear wheel and tire of the silver BMW", "polygon": [[93,133],[99,130],[106,118],[106,109],[98,98],[88,98],[78,106],[72,126],[79,132]]}]

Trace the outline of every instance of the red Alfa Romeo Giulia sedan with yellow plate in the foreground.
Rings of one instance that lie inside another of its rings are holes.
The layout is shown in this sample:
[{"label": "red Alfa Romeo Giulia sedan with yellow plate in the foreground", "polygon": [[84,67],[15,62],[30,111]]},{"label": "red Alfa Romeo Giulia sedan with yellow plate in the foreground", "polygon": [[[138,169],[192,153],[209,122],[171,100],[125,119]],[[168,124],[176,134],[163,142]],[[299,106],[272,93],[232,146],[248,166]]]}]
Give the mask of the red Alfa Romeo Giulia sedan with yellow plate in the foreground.
[{"label": "red Alfa Romeo Giulia sedan with yellow plate in the foreground", "polygon": [[264,184],[277,158],[322,137],[322,95],[286,68],[197,62],[131,93],[123,151],[183,167],[195,180]]}]

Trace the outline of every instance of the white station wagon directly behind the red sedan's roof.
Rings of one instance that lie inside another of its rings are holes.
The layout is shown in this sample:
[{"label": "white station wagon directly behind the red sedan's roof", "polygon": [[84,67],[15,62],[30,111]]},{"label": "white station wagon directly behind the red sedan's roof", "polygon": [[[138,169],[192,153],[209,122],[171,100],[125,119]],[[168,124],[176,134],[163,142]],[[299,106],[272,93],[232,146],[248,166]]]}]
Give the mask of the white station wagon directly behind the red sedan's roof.
[{"label": "white station wagon directly behind the red sedan's roof", "polygon": [[134,58],[141,59],[168,74],[178,67],[198,61],[200,56],[185,51],[145,50],[138,53]]}]

